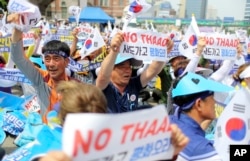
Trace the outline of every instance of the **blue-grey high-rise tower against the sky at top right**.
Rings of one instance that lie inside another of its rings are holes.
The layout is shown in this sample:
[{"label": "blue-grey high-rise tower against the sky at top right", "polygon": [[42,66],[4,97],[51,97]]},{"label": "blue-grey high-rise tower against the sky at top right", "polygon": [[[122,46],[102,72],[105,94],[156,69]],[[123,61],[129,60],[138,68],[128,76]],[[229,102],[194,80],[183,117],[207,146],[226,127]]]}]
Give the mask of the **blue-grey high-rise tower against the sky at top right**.
[{"label": "blue-grey high-rise tower against the sky at top right", "polygon": [[191,18],[192,14],[196,19],[205,19],[207,10],[207,0],[186,0],[186,18]]}]

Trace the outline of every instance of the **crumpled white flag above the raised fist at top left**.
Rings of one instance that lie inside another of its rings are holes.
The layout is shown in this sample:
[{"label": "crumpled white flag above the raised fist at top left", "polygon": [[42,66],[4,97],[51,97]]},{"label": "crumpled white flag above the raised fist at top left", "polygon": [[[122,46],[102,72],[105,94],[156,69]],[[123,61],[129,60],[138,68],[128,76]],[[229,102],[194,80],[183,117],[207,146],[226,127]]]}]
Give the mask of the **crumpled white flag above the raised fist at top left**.
[{"label": "crumpled white flag above the raised fist at top left", "polygon": [[28,32],[41,19],[39,8],[26,0],[10,0],[7,8],[10,13],[21,15],[19,23],[12,25],[23,32]]}]

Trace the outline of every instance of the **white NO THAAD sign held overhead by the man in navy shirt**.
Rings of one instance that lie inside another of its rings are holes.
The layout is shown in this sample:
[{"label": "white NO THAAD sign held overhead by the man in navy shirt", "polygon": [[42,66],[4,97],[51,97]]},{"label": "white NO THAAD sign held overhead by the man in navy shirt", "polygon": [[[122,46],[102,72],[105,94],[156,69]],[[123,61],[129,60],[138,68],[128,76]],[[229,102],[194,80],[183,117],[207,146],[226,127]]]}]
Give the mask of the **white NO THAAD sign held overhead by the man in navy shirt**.
[{"label": "white NO THAAD sign held overhead by the man in navy shirt", "polygon": [[138,60],[167,61],[167,34],[143,29],[127,28],[120,53]]}]

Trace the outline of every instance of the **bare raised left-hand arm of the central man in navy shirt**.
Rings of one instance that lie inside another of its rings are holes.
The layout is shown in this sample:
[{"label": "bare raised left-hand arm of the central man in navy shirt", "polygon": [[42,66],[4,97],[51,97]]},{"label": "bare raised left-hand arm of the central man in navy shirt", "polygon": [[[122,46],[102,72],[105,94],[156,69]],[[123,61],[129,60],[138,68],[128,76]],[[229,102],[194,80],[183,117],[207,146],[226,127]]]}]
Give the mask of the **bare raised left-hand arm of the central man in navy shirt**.
[{"label": "bare raised left-hand arm of the central man in navy shirt", "polygon": [[109,82],[111,77],[111,72],[114,68],[116,56],[118,52],[120,51],[121,43],[123,42],[123,35],[122,33],[117,33],[111,40],[111,47],[109,50],[109,54],[107,57],[103,60],[100,71],[98,73],[97,79],[96,79],[96,86],[105,89]]}]

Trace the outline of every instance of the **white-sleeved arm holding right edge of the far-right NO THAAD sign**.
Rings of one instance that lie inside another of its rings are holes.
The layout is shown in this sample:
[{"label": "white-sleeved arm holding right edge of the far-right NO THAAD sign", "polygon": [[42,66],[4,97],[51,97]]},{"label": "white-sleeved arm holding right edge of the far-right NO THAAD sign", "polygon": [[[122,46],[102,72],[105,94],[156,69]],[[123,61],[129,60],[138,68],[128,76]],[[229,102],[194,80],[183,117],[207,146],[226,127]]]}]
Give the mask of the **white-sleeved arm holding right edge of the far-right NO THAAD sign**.
[{"label": "white-sleeved arm holding right edge of the far-right NO THAAD sign", "polygon": [[[242,46],[239,43],[239,45],[237,46],[237,58],[239,58],[241,55]],[[210,78],[219,82],[222,81],[231,71],[234,62],[235,60],[224,60],[222,66],[216,72],[214,72]]]}]

